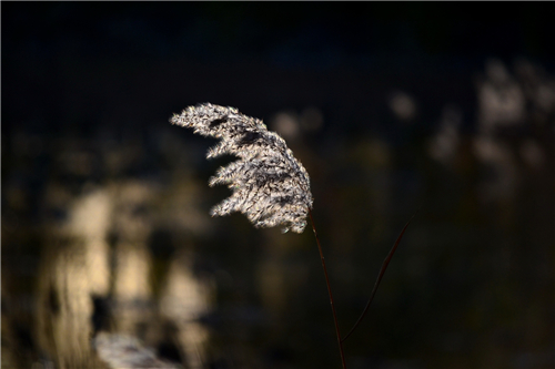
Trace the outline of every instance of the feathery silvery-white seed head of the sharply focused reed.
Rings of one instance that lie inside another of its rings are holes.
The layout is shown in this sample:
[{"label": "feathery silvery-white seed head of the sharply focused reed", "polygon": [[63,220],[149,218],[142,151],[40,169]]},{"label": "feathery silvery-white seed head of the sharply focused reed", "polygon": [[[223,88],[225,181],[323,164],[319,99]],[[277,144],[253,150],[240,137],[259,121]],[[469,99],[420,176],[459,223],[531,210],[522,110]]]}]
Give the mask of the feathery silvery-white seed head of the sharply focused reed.
[{"label": "feathery silvery-white seed head of the sharply focused reed", "polygon": [[220,139],[206,158],[223,154],[239,157],[210,178],[210,186],[226,184],[233,192],[212,208],[212,216],[241,212],[255,227],[283,225],[284,233],[304,230],[313,203],[309,174],[285,141],[269,132],[261,120],[235,107],[205,103],[186,107],[170,122]]}]

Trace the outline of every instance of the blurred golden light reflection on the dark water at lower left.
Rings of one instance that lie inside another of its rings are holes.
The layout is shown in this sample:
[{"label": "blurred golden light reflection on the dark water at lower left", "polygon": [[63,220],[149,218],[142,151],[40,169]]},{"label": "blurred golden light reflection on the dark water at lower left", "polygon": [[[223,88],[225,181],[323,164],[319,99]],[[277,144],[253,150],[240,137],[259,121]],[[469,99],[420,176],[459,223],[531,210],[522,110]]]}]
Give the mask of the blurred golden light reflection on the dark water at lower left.
[{"label": "blurred golden light reflection on the dark water at lower left", "polygon": [[[101,368],[100,357],[112,367],[135,367],[142,357],[142,367],[176,368],[147,355],[158,346],[176,362],[203,367],[209,332],[199,319],[211,310],[214,284],[195,276],[194,253],[186,245],[159,262],[167,270],[154,275],[149,245],[154,194],[140,182],[85,191],[70,201],[62,221],[48,225],[37,275],[37,322],[24,327],[37,338],[39,356],[19,365]],[[154,348],[137,349],[138,339]]]}]

